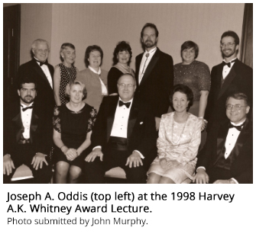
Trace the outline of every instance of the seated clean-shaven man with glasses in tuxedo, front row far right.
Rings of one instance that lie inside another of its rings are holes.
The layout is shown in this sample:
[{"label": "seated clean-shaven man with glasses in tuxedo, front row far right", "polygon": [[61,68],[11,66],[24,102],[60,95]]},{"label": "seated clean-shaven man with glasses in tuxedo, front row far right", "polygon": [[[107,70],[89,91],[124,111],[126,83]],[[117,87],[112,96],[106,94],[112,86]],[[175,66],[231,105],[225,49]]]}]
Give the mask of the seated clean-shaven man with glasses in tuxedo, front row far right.
[{"label": "seated clean-shaven man with glasses in tuxedo, front row far right", "polygon": [[226,101],[228,120],[215,122],[199,152],[197,184],[252,184],[253,133],[248,96],[235,92]]}]

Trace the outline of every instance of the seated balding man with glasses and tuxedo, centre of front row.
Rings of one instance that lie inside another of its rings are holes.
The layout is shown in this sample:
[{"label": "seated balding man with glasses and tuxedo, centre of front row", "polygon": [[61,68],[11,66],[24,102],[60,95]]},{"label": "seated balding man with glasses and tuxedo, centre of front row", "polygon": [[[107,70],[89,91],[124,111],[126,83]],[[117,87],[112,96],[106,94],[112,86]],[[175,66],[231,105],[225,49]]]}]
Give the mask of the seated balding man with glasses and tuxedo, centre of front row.
[{"label": "seated balding man with glasses and tuxedo, centre of front row", "polygon": [[[131,74],[118,79],[118,95],[103,98],[92,129],[92,152],[86,157],[87,183],[104,183],[105,171],[121,167],[128,183],[145,183],[157,155],[157,132],[151,107],[134,97]],[[99,160],[100,159],[100,160]]]}]

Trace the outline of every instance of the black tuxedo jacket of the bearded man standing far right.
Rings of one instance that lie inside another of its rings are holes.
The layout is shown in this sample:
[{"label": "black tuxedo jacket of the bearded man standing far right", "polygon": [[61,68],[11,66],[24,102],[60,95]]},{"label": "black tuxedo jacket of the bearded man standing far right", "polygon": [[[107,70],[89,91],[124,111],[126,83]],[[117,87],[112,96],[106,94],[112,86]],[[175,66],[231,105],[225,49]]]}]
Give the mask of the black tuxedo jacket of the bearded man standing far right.
[{"label": "black tuxedo jacket of the bearded man standing far right", "polygon": [[225,114],[225,101],[233,91],[241,91],[248,95],[252,103],[253,72],[251,67],[246,66],[239,60],[235,62],[232,69],[225,78],[222,85],[222,63],[214,66],[211,72],[211,89],[209,91],[205,118],[209,121],[208,127],[213,121],[227,119]]}]

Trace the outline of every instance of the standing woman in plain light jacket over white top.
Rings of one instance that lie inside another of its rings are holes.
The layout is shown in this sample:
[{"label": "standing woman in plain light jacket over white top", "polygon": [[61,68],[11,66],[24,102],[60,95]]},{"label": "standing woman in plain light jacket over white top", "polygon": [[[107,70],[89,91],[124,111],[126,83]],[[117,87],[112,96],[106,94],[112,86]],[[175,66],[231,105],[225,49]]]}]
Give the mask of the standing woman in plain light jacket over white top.
[{"label": "standing woman in plain light jacket over white top", "polygon": [[99,111],[102,98],[108,95],[108,72],[101,69],[103,51],[99,46],[88,46],[86,48],[85,63],[87,69],[77,74],[77,81],[86,85],[87,98],[83,100],[86,104],[95,107]]}]

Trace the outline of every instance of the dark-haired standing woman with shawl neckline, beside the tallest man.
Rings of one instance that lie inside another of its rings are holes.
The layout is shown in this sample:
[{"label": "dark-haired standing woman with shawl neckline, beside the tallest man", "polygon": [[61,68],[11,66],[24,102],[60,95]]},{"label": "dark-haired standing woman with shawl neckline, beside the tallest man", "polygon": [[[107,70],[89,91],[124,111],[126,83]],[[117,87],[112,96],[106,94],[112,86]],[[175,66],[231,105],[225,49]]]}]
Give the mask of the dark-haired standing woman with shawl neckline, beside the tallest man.
[{"label": "dark-haired standing woman with shawl neckline, beside the tallest man", "polygon": [[113,53],[114,66],[109,70],[108,88],[109,95],[118,95],[117,82],[122,74],[130,73],[134,76],[134,70],[129,67],[131,63],[131,46],[124,40],[119,42]]}]

